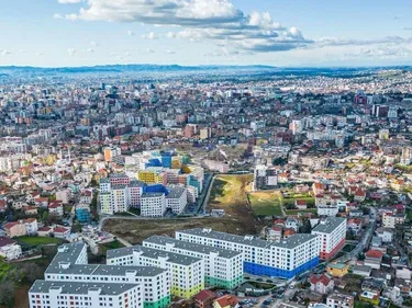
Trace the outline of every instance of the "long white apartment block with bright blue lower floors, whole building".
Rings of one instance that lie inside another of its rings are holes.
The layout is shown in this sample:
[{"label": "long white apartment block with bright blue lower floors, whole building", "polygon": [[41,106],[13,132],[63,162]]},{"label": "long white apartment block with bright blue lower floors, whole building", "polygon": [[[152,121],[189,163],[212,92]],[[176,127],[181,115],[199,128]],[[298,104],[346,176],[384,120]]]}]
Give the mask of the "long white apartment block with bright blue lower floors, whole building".
[{"label": "long white apartment block with bright blue lower floors, whole building", "polygon": [[197,228],[176,231],[176,239],[244,252],[244,272],[291,278],[319,263],[321,250],[315,235],[294,235],[279,242],[269,242],[253,236],[235,236]]}]

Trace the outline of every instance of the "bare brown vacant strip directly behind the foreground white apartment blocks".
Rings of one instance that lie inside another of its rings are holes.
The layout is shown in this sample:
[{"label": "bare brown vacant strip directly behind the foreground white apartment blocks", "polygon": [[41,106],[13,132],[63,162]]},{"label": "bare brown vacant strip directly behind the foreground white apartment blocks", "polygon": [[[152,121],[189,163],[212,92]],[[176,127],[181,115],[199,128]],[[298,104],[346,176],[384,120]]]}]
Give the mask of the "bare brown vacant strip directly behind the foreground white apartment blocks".
[{"label": "bare brown vacant strip directly behind the foreground white apartment blocks", "polygon": [[216,231],[237,235],[256,233],[254,220],[223,218],[181,218],[181,219],[109,219],[103,229],[131,243],[141,243],[153,236],[175,236],[176,230],[211,227]]}]

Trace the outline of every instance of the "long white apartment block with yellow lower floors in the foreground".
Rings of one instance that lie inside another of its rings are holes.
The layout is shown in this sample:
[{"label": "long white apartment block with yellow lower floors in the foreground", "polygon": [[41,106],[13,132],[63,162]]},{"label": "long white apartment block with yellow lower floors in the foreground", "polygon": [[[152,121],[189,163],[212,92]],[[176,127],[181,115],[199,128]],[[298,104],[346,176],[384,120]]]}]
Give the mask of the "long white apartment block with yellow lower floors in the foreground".
[{"label": "long white apartment block with yellow lower floors in the foreground", "polygon": [[204,261],[196,256],[135,246],[108,251],[107,264],[168,270],[170,293],[182,298],[190,298],[204,288]]}]

